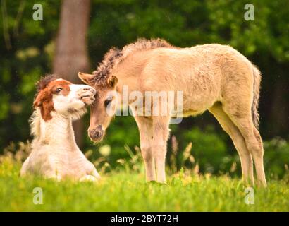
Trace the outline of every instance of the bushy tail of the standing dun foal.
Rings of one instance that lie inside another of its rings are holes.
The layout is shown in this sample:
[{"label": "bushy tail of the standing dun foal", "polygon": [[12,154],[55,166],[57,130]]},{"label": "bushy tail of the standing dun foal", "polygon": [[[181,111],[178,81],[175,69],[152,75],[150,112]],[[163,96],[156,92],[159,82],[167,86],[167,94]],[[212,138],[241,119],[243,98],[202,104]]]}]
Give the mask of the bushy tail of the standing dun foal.
[{"label": "bushy tail of the standing dun foal", "polygon": [[261,83],[261,72],[257,68],[257,66],[253,65],[253,76],[254,76],[254,83],[253,83],[253,103],[252,103],[252,119],[254,126],[258,129],[259,128],[259,112],[258,112],[258,105],[259,105],[259,94],[260,94],[260,83]]}]

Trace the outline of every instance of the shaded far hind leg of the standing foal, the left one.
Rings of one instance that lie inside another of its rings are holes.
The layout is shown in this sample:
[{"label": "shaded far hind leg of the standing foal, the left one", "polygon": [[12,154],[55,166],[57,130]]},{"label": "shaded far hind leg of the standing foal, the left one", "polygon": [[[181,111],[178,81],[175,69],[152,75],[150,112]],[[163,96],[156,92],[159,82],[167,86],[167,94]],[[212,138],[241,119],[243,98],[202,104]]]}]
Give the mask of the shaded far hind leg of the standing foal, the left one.
[{"label": "shaded far hind leg of the standing foal, the left one", "polygon": [[235,145],[235,148],[238,150],[242,166],[242,181],[244,185],[254,186],[252,156],[247,150],[245,140],[239,129],[235,126],[235,124],[233,124],[233,121],[231,121],[228,115],[223,111],[221,103],[216,103],[209,109],[209,112],[214,114],[214,117],[216,117],[216,119],[219,121],[219,124],[221,124],[223,130],[228,133]]}]

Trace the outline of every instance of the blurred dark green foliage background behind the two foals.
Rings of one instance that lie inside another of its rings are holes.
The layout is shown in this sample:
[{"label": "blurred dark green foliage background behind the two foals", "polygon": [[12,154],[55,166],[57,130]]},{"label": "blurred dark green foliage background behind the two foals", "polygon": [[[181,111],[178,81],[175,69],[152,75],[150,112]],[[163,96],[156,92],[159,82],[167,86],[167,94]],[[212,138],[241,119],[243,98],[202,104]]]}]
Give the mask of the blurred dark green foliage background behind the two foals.
[{"label": "blurred dark green foliage background behind the two foals", "polygon": [[[32,7],[37,3],[43,6],[42,21],[32,19]],[[87,18],[87,32],[82,34],[87,37],[87,72],[97,68],[109,48],[123,47],[137,37],[161,37],[178,47],[215,42],[238,49],[262,71],[259,112],[267,176],[281,178],[288,173],[289,1],[250,1],[253,21],[244,19],[247,1],[242,0],[83,0],[79,4],[89,8],[87,15],[71,13],[61,18],[65,3],[69,11],[75,0],[1,0],[0,154],[7,146],[17,150],[18,141],[31,139],[28,119],[35,82],[55,71],[55,54],[64,44],[56,44],[61,20],[63,26],[64,22],[73,26],[69,18]],[[75,35],[80,30],[77,25],[73,28]],[[77,59],[78,54],[71,57]],[[76,71],[69,76],[77,81]],[[139,135],[133,117],[116,117],[99,145],[87,138],[88,119],[89,114],[84,129],[78,129],[82,134],[79,142],[84,152],[91,150],[92,160],[102,162],[104,158],[109,170],[138,155]],[[240,160],[230,138],[208,112],[171,126],[167,162],[171,172],[187,167],[203,173],[240,175]]]}]

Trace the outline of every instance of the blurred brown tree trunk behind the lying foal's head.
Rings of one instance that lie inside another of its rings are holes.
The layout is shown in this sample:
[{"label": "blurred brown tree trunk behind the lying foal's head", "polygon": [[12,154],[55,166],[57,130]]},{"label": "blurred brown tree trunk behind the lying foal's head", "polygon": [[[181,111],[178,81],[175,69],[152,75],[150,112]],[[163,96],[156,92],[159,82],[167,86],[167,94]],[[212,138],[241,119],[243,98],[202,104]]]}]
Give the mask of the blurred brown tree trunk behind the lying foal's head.
[{"label": "blurred brown tree trunk behind the lying foal's head", "polygon": [[[53,71],[73,83],[80,83],[78,71],[87,72],[90,69],[86,42],[89,16],[90,0],[63,0]],[[82,121],[75,121],[73,128],[76,142],[81,147],[84,132]]]}]

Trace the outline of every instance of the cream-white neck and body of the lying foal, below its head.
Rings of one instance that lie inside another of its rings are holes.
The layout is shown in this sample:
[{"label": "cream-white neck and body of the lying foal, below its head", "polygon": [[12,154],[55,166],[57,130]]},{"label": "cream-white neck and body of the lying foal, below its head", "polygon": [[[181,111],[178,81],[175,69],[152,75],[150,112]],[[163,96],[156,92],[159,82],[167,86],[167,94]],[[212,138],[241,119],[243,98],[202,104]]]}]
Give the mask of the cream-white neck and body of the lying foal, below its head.
[{"label": "cream-white neck and body of the lying foal, below its head", "polygon": [[20,175],[39,174],[57,180],[96,180],[99,174],[92,162],[75,143],[72,117],[63,117],[56,112],[45,122],[39,110],[32,118],[32,153],[25,160]]}]

